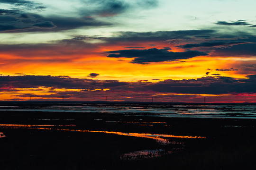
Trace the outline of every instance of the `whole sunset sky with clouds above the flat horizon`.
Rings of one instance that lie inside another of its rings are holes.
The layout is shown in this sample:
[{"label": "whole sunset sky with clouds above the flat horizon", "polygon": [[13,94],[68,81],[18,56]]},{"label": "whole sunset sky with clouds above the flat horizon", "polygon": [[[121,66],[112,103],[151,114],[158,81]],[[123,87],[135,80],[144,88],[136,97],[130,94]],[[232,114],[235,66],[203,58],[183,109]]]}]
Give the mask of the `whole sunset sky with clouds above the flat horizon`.
[{"label": "whole sunset sky with clouds above the flat horizon", "polygon": [[255,0],[0,0],[0,101],[256,102]]}]

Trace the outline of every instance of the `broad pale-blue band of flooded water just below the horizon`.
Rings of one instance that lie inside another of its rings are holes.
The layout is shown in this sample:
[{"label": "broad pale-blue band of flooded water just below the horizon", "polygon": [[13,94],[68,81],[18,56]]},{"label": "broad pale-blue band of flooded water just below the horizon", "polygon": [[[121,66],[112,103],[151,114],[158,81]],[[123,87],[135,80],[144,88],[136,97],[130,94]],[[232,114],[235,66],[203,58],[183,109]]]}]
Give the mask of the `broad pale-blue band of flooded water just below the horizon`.
[{"label": "broad pale-blue band of flooded water just below the horizon", "polygon": [[[44,111],[44,112],[80,112],[80,113],[117,113],[128,115],[178,117],[178,118],[236,118],[256,119],[255,105],[198,105],[198,104],[173,104],[173,105],[131,105],[124,107],[120,105],[95,106],[2,106],[0,111]],[[48,119],[50,120],[50,119]]]}]

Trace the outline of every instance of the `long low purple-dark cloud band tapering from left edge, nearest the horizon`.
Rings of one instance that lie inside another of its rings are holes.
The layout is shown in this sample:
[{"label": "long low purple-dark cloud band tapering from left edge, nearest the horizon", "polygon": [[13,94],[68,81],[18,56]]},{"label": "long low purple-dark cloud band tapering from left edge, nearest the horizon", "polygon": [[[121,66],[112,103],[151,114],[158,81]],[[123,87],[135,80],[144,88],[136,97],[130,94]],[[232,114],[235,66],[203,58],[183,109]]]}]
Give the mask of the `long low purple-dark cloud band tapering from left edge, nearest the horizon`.
[{"label": "long low purple-dark cloud band tapering from left edge, nearest the horizon", "polygon": [[124,86],[128,83],[115,80],[99,81],[69,76],[0,76],[0,89],[52,87],[66,89],[101,89]]}]

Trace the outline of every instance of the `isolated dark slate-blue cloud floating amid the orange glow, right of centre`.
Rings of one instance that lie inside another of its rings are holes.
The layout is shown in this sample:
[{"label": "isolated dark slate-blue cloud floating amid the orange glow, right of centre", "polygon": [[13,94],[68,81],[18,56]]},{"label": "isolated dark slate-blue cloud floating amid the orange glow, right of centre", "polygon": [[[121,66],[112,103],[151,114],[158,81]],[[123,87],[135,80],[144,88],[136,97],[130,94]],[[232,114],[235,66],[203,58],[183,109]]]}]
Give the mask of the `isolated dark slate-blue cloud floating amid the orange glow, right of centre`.
[{"label": "isolated dark slate-blue cloud floating amid the orange glow, right of centre", "polygon": [[[162,61],[176,61],[180,59],[190,59],[196,56],[206,56],[205,52],[201,51],[184,51],[184,52],[172,52],[170,48],[164,49],[147,49],[147,50],[118,50],[118,51],[105,51],[110,53],[107,57],[113,58],[135,58],[131,63],[134,64],[148,64],[150,62],[162,62]],[[119,54],[116,54],[119,53]]]}]

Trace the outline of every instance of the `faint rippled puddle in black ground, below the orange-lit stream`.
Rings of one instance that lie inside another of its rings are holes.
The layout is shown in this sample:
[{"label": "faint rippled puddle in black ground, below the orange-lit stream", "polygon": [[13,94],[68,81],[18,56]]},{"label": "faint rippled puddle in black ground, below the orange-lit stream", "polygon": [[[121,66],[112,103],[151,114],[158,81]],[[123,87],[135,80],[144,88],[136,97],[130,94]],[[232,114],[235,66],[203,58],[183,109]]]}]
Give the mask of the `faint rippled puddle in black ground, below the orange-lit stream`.
[{"label": "faint rippled puddle in black ground, below the orange-lit stream", "polygon": [[163,155],[171,154],[181,150],[183,150],[183,147],[173,148],[171,151],[166,151],[165,149],[135,151],[135,152],[122,154],[120,156],[120,159],[121,160],[142,160],[142,159],[158,158]]}]

